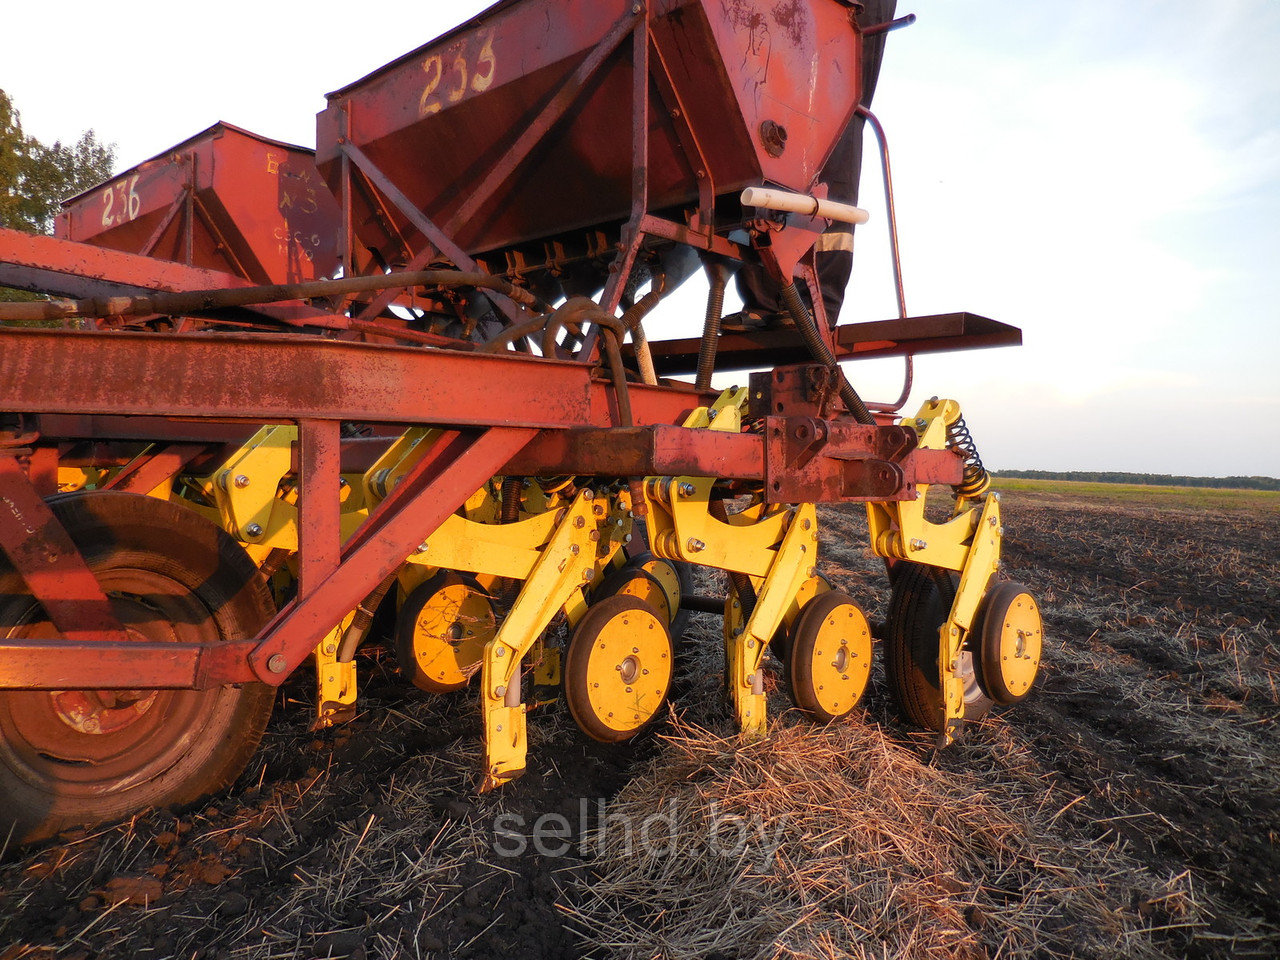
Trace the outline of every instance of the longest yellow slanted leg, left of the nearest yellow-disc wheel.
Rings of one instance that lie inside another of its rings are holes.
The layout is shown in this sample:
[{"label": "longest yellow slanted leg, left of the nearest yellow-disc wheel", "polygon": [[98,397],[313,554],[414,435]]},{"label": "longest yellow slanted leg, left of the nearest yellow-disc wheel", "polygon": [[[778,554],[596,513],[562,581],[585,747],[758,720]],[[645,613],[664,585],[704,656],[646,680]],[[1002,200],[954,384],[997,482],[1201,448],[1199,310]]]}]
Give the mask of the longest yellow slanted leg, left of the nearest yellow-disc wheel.
[{"label": "longest yellow slanted leg, left of the nearest yellow-disc wheel", "polygon": [[[524,773],[527,742],[526,704],[520,694],[521,663],[558,609],[585,605],[584,585],[617,549],[617,541],[600,535],[599,527],[608,513],[605,503],[596,500],[590,490],[582,490],[563,513],[552,515],[558,522],[550,539],[532,564],[498,635],[485,646],[480,695],[485,735],[483,790]],[[512,526],[518,524],[498,529]]]}]

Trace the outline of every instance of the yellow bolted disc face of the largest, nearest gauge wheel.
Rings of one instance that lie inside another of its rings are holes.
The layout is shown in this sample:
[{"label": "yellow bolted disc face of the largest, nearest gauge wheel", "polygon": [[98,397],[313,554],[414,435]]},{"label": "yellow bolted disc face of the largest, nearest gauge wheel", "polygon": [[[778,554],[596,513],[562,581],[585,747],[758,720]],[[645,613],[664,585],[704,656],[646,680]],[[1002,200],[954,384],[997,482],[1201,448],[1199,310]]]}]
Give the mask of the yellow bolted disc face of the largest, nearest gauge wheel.
[{"label": "yellow bolted disc face of the largest, nearest gauge wheel", "polygon": [[586,694],[602,726],[620,733],[639,730],[662,707],[671,686],[671,640],[662,614],[654,609],[628,609],[611,617],[593,636],[575,636],[586,643]]}]

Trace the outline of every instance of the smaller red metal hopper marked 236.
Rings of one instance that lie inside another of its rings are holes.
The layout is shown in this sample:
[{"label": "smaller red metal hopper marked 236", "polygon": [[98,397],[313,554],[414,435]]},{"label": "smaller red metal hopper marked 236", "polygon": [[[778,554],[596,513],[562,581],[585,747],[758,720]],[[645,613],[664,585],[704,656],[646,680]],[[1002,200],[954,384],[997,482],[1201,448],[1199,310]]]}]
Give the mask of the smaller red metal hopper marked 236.
[{"label": "smaller red metal hopper marked 236", "polygon": [[338,265],[338,205],[315,152],[216,123],[63,204],[58,236],[255,283]]}]

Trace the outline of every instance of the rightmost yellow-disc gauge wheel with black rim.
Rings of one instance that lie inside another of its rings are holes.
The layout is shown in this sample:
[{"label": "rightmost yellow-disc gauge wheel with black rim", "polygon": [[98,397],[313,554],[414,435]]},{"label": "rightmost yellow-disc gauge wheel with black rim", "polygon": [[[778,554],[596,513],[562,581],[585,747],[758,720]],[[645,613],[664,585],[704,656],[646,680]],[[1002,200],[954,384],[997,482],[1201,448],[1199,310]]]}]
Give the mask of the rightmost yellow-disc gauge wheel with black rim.
[{"label": "rightmost yellow-disc gauge wheel with black rim", "polygon": [[1044,625],[1029,588],[1006,581],[983,598],[973,635],[978,657],[974,667],[983,692],[996,703],[1024,699],[1039,673]]}]

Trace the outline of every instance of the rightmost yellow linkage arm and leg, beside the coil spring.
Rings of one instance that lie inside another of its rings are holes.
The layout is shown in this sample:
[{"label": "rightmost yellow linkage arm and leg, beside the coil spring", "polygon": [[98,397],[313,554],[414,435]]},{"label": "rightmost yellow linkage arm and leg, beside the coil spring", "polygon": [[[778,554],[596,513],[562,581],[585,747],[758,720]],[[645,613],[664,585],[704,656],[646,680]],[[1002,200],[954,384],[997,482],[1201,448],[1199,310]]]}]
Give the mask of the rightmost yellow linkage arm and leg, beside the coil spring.
[{"label": "rightmost yellow linkage arm and leg, beside the coil spring", "polygon": [[[901,422],[915,429],[922,449],[946,449],[947,428],[960,419],[955,401],[928,401],[914,419]],[[964,678],[960,676],[960,652],[973,627],[978,607],[1000,568],[1000,544],[1004,525],[1000,517],[1000,495],[977,492],[974,497],[957,497],[950,520],[934,524],[925,518],[928,485],[922,484],[918,498],[888,503],[868,503],[872,549],[890,559],[927,563],[960,572],[960,586],[946,622],[938,630],[938,673],[943,710],[938,745],[955,739],[964,722]]]}]

